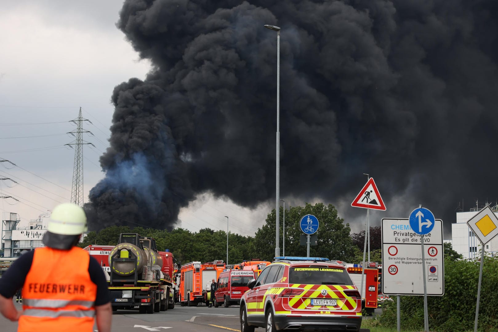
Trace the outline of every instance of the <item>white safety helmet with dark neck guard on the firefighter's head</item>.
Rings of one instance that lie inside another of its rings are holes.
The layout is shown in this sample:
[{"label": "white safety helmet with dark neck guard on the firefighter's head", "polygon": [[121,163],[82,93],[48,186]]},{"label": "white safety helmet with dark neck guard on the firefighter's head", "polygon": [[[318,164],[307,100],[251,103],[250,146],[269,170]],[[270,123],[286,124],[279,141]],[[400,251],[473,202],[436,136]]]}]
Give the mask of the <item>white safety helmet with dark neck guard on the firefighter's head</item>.
[{"label": "white safety helmet with dark neck guard on the firefighter's head", "polygon": [[52,211],[43,243],[51,248],[70,249],[86,230],[85,211],[76,204],[63,203]]}]

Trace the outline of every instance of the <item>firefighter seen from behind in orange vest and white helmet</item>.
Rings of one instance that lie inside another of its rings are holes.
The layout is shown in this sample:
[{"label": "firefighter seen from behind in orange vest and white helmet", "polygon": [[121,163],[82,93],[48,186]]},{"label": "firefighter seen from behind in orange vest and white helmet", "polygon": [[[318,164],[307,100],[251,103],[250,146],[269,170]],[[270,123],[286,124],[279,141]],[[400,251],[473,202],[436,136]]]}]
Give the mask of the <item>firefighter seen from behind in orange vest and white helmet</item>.
[{"label": "firefighter seen from behind in orange vest and white helmet", "polygon": [[[43,236],[44,248],[17,258],[0,278],[0,313],[18,321],[18,332],[111,331],[112,307],[97,260],[76,247],[87,229],[82,208],[57,206]],[[22,311],[12,301],[22,288]]]}]

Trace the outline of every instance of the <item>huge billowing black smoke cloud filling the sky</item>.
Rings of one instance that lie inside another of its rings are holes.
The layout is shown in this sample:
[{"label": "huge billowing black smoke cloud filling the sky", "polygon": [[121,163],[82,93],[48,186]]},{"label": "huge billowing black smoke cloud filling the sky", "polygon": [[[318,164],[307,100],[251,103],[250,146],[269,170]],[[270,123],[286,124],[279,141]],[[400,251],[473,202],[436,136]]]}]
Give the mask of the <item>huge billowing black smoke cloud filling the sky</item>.
[{"label": "huge billowing black smoke cloud filling the sky", "polygon": [[281,193],[353,199],[369,173],[385,201],[412,200],[407,215],[422,203],[450,222],[462,198],[494,201],[497,11],[494,0],[125,1],[117,25],[153,70],[113,93],[93,226],[171,228],[203,192],[274,199],[276,34],[264,24],[282,28]]}]

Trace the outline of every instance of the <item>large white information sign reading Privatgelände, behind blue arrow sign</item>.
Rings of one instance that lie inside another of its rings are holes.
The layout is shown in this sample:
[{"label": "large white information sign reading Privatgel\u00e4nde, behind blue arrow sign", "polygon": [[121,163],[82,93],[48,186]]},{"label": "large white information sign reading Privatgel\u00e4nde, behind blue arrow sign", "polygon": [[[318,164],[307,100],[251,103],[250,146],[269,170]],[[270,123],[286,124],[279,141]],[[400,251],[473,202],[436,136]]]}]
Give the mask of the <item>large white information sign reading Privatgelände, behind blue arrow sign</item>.
[{"label": "large white information sign reading Privatgel\u00e4nde, behind blue arrow sign", "polygon": [[[382,227],[382,293],[424,295],[420,235],[408,219],[384,218]],[[424,235],[427,295],[444,295],[443,221]]]}]

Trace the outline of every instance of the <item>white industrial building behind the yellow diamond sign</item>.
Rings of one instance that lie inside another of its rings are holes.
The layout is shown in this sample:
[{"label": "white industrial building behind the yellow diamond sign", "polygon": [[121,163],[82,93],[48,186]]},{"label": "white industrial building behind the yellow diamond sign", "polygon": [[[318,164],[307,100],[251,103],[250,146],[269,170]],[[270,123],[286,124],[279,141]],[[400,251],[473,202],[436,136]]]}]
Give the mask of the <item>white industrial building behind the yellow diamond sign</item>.
[{"label": "white industrial building behind the yellow diamond sign", "polygon": [[[498,205],[492,207],[495,215],[498,216]],[[481,209],[473,208],[469,212],[457,212],[457,222],[451,224],[451,242],[453,250],[461,254],[464,258],[480,258],[481,242],[474,232],[469,228],[467,221],[474,217]],[[498,236],[485,244],[484,250],[489,254],[498,253]]]}]

